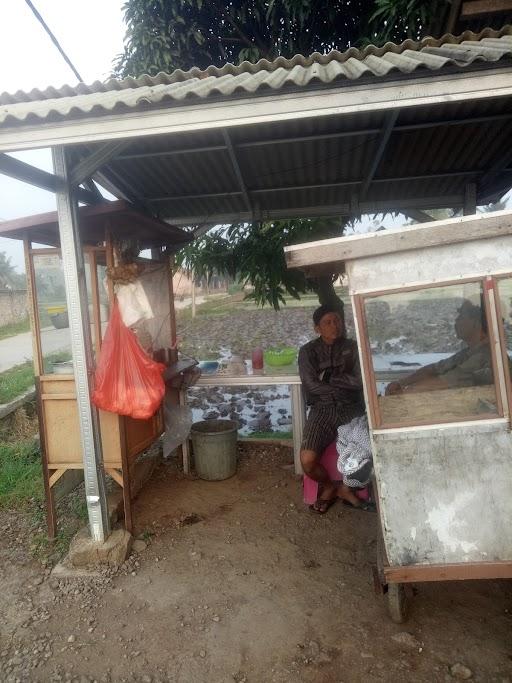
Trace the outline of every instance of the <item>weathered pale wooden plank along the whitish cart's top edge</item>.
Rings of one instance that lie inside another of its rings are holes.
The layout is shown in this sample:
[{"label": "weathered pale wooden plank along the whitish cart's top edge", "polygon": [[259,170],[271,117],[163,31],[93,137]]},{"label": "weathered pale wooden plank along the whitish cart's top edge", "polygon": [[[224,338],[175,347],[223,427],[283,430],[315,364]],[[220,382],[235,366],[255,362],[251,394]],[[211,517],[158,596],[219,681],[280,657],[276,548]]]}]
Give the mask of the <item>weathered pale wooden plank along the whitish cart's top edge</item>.
[{"label": "weathered pale wooden plank along the whitish cart's top edge", "polygon": [[288,268],[302,268],[510,234],[512,211],[496,211],[297,244],[285,247],[285,257]]}]

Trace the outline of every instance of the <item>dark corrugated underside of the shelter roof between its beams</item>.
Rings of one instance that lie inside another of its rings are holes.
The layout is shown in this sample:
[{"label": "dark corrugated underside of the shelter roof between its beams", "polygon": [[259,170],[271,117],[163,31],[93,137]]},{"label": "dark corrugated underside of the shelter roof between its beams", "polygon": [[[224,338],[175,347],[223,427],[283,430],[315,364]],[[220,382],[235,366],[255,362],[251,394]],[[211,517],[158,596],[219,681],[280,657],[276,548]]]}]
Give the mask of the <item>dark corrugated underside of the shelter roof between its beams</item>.
[{"label": "dark corrugated underside of the shelter roof between its beams", "polygon": [[[383,112],[356,113],[235,129],[232,141],[252,211],[215,129],[137,138],[102,171],[126,180],[134,200],[177,224],[348,215],[384,121]],[[477,183],[478,198],[485,199],[512,182],[504,164],[490,186],[479,185],[511,136],[510,98],[423,106],[414,115],[403,110],[360,202],[372,211],[460,207],[468,183]]]}]

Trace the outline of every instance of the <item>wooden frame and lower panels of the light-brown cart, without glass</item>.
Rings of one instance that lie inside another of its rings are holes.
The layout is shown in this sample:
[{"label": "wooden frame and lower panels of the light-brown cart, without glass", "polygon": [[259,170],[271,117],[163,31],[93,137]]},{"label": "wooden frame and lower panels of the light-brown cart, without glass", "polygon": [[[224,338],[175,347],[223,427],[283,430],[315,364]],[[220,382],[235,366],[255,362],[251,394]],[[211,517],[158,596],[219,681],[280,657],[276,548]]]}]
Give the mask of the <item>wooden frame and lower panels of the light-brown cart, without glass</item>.
[{"label": "wooden frame and lower panels of the light-brown cart, without glass", "polygon": [[[162,224],[148,218],[128,207],[125,202],[112,202],[101,208],[85,209],[80,218],[84,261],[89,265],[90,299],[92,302],[91,327],[92,341],[96,356],[102,343],[102,321],[100,306],[100,286],[97,265],[112,266],[114,264],[114,239],[116,236],[116,218],[122,218],[123,227],[132,225],[134,231],[141,229],[146,234],[161,240]],[[94,221],[92,234],[89,231]],[[42,214],[28,219],[13,221],[10,236],[23,239],[25,265],[28,285],[28,308],[33,339],[34,374],[36,385],[36,403],[39,420],[43,479],[47,502],[48,534],[54,538],[57,533],[57,518],[54,487],[58,481],[70,471],[83,470],[83,453],[80,443],[80,426],[78,420],[75,378],[72,370],[68,374],[54,374],[45,371],[42,330],[40,324],[40,302],[36,283],[36,266],[34,260],[40,256],[59,256],[58,223],[56,214]],[[9,227],[9,226],[7,226]],[[181,237],[177,229],[170,227],[171,239]],[[173,231],[176,232],[173,235]],[[184,235],[184,233],[183,233]],[[103,239],[101,239],[103,238]],[[147,239],[147,238],[146,238]],[[188,238],[185,236],[184,241]],[[96,244],[91,244],[96,242]],[[51,247],[38,247],[37,244],[53,244]],[[152,250],[157,258],[144,259],[146,263],[158,261],[167,264],[169,292],[169,318],[171,338],[169,346],[176,339],[176,323],[172,285],[172,268],[169,256],[165,257],[159,249]],[[113,285],[108,281],[108,305],[111,308],[114,300]],[[172,390],[171,390],[172,391]],[[178,392],[174,391],[174,399],[179,401]],[[123,497],[124,523],[128,531],[134,528],[132,501],[137,494],[144,476],[144,467],[137,464],[138,456],[146,450],[164,431],[163,410],[160,408],[148,420],[135,420],[130,417],[99,411],[99,422],[103,452],[103,471],[121,487]]]}]

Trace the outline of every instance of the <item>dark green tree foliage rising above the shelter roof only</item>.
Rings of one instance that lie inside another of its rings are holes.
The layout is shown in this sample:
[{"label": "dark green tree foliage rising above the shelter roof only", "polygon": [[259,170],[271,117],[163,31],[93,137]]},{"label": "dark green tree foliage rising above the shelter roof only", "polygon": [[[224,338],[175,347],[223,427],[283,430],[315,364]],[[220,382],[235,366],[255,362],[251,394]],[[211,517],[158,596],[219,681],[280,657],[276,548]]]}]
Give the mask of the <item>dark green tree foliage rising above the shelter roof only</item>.
[{"label": "dark green tree foliage rising above the shelter roof only", "polygon": [[117,76],[309,55],[439,33],[449,0],[127,0]]}]

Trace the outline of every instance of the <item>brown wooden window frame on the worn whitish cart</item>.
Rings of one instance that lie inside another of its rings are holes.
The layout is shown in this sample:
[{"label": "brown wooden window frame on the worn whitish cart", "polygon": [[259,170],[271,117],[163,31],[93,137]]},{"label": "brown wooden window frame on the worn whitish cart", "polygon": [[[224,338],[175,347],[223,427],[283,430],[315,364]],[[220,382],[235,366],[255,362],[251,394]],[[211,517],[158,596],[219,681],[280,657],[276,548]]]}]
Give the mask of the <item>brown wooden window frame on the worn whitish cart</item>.
[{"label": "brown wooden window frame on the worn whitish cart", "polygon": [[[504,275],[500,276],[501,277],[510,277],[510,275]],[[502,386],[503,381],[506,381],[505,378],[499,373],[498,371],[498,363],[497,363],[497,349],[500,349],[500,354],[506,353],[506,350],[504,349],[503,346],[503,340],[504,340],[504,329],[503,329],[503,322],[502,318],[499,315],[499,297],[495,296],[494,297],[494,304],[491,303],[490,297],[489,297],[489,290],[492,290],[493,293],[496,291],[497,288],[497,280],[498,278],[495,276],[480,276],[480,277],[471,277],[471,278],[460,278],[458,280],[447,280],[447,281],[439,281],[439,282],[431,282],[431,283],[422,283],[422,284],[415,284],[415,285],[409,285],[409,286],[404,286],[404,287],[393,287],[393,288],[387,288],[387,289],[379,289],[376,291],[366,291],[364,293],[354,293],[353,294],[353,306],[354,306],[354,314],[356,318],[356,325],[358,329],[358,336],[359,336],[359,343],[360,343],[360,356],[361,356],[361,365],[362,365],[362,371],[363,371],[363,376],[364,376],[364,383],[366,386],[366,398],[367,398],[367,404],[368,404],[368,411],[369,411],[369,418],[370,418],[370,424],[373,429],[380,429],[380,430],[391,430],[391,429],[402,429],[402,428],[408,428],[408,427],[422,427],[422,426],[435,426],[438,424],[456,424],[460,422],[475,422],[475,421],[485,421],[485,420],[496,420],[496,419],[503,419],[506,417],[505,410],[504,410],[504,405],[503,405],[503,389],[504,387]],[[368,324],[367,324],[367,317],[366,317],[366,310],[365,310],[365,302],[375,299],[380,296],[385,296],[385,295],[392,295],[392,294],[397,294],[399,292],[415,292],[415,291],[420,291],[420,290],[425,290],[425,289],[436,289],[436,288],[442,288],[442,287],[450,287],[450,286],[455,286],[455,285],[462,285],[462,284],[477,284],[480,285],[481,287],[481,293],[482,293],[482,298],[484,302],[484,311],[485,311],[485,316],[486,316],[486,322],[487,322],[487,327],[488,327],[488,335],[489,335],[489,347],[490,347],[490,356],[491,356],[491,365],[492,365],[492,373],[493,373],[493,387],[494,387],[494,392],[495,392],[495,399],[496,399],[496,412],[495,413],[477,413],[474,415],[467,415],[464,417],[449,417],[446,419],[443,418],[435,418],[431,420],[421,420],[421,419],[404,419],[396,422],[384,422],[382,418],[382,412],[380,410],[379,406],[379,401],[378,401],[378,391],[377,391],[377,379],[376,379],[376,373],[374,370],[374,365],[373,365],[373,356],[372,356],[372,350],[370,347],[370,338],[368,334]],[[497,317],[497,329],[495,329],[495,325],[493,324],[493,317],[491,315],[491,307],[494,305],[494,310],[496,313]],[[501,358],[500,358],[501,360]],[[506,373],[505,373],[506,374]],[[510,382],[509,382],[510,384]],[[512,388],[510,388],[511,393],[507,391],[507,398],[508,398],[508,406],[507,406],[507,413],[510,415],[510,412],[508,410],[509,406],[511,405],[510,400],[512,396]]]}]

